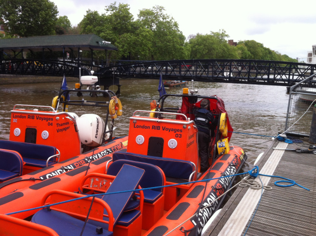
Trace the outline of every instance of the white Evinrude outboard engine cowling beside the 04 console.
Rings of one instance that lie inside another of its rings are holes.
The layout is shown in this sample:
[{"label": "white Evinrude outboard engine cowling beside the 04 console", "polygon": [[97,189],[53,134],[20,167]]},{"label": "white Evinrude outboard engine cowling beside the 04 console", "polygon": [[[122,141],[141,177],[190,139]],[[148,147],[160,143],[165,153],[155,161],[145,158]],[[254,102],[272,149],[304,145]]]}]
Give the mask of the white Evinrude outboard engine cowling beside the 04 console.
[{"label": "white Evinrude outboard engine cowling beside the 04 console", "polygon": [[89,147],[102,144],[104,121],[98,115],[84,114],[77,120],[80,141]]}]

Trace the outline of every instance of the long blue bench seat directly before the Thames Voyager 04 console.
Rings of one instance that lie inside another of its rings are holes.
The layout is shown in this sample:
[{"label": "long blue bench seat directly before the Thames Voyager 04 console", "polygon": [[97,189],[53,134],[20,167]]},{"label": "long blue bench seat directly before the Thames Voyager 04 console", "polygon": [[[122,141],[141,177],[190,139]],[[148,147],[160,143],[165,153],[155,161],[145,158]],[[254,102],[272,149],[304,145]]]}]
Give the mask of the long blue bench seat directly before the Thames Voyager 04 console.
[{"label": "long blue bench seat directly before the Thames Voyager 04 console", "polygon": [[[52,146],[0,140],[0,149],[7,149],[18,152],[25,165],[46,167],[59,161],[60,153]],[[58,153],[58,154],[57,154]]]}]

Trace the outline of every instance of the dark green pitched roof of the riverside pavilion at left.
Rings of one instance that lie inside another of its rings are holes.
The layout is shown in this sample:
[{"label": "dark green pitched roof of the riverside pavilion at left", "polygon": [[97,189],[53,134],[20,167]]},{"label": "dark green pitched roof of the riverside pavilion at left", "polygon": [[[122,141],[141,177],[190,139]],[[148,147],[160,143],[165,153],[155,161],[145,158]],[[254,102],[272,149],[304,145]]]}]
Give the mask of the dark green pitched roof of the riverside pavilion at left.
[{"label": "dark green pitched roof of the riverside pavilion at left", "polygon": [[97,35],[54,35],[30,38],[1,39],[0,51],[29,49],[30,51],[63,51],[65,49],[118,50],[116,46]]}]

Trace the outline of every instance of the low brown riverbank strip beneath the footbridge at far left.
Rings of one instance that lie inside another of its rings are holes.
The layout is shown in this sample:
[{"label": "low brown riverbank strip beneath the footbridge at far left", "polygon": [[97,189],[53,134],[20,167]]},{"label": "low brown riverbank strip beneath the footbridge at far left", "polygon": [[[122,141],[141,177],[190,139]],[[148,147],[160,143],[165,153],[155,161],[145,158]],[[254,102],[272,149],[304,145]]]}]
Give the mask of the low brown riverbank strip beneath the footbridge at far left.
[{"label": "low brown riverbank strip beneath the footbridge at far left", "polygon": [[[0,85],[21,83],[49,83],[62,82],[59,76],[25,76],[25,75],[0,75]],[[67,81],[79,81],[76,77],[67,77]]]}]

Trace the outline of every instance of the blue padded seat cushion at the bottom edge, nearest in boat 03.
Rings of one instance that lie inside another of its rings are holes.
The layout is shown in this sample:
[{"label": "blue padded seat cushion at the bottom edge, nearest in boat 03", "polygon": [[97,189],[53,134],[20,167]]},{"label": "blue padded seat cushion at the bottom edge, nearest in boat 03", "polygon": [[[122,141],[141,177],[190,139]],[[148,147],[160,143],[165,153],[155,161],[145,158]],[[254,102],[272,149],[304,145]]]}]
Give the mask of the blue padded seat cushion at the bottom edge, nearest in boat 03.
[{"label": "blue padded seat cushion at the bottom edge, nearest in boat 03", "polygon": [[[79,236],[83,228],[84,222],[76,219],[66,213],[47,209],[42,209],[34,214],[32,222],[47,226],[54,230],[59,236]],[[89,224],[84,227],[82,236],[113,236],[110,232],[103,228],[103,233],[96,232],[96,226]]]}]

